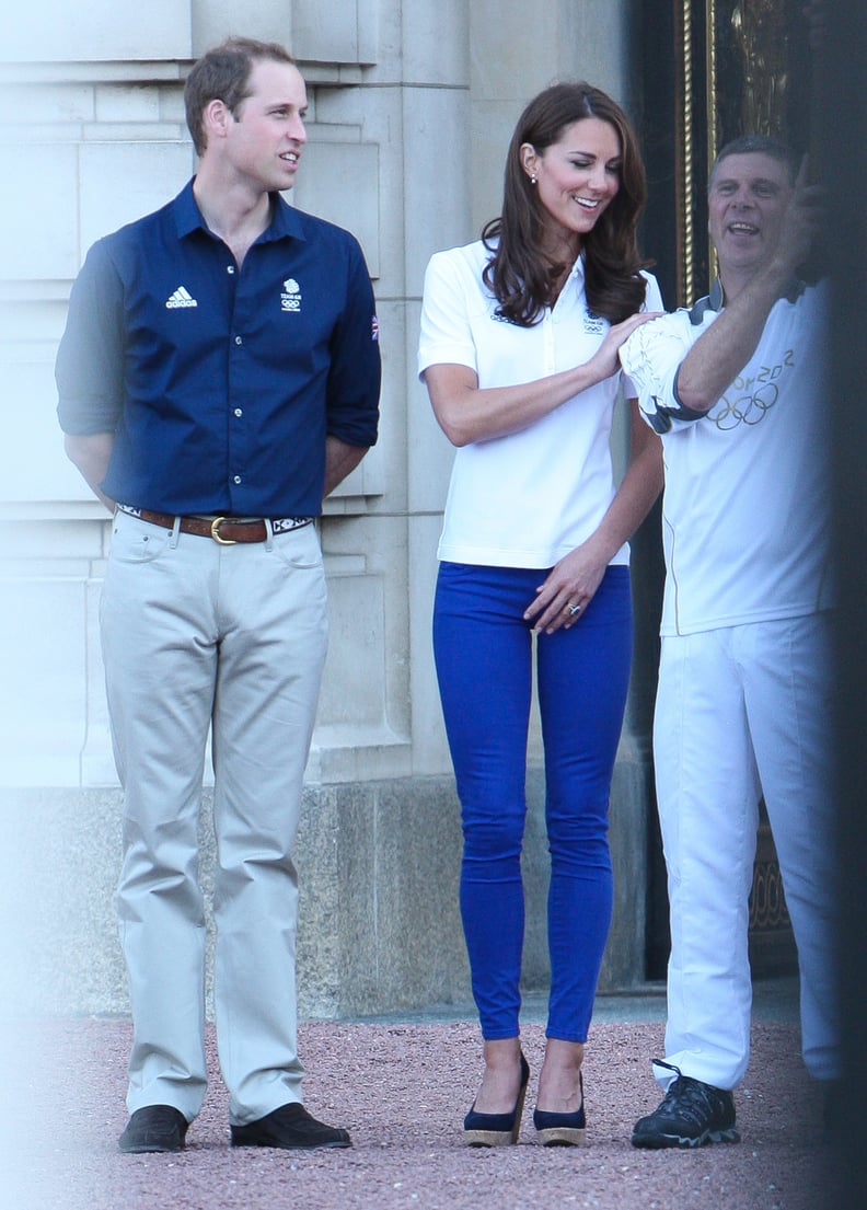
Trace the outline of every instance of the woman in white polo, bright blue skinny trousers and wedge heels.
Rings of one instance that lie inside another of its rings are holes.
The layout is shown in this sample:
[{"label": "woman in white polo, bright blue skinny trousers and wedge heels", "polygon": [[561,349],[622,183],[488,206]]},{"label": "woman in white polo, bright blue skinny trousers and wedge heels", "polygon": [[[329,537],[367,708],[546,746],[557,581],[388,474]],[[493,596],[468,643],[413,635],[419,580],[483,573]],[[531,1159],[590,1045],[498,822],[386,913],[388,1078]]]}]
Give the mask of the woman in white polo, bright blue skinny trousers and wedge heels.
[{"label": "woman in white polo, bright blue skinny trousers and wedge heels", "polygon": [[514,132],[502,215],[433,257],[418,370],[457,446],[434,651],[462,806],[461,910],[485,1074],[467,1142],[518,1137],[520,871],[533,639],[551,852],[544,1143],[584,1137],[580,1065],[612,903],[607,811],[631,658],[626,541],[661,486],[634,405],[619,489],[609,433],[619,345],[661,310],[641,271],[645,173],[619,106],[555,85]]}]

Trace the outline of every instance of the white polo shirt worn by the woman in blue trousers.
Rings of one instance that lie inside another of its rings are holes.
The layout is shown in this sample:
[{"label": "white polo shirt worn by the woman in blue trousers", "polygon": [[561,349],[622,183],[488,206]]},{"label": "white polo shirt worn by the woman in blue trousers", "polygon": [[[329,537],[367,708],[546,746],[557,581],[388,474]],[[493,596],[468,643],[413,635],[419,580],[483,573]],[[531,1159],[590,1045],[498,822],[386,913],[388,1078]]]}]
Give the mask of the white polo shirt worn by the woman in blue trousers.
[{"label": "white polo shirt worn by the woman in blue trousers", "polygon": [[[532,382],[588,362],[608,330],[584,298],[579,258],[553,309],[521,328],[499,318],[481,273],[478,241],[437,253],[424,277],[418,373],[475,370],[480,387]],[[648,310],[663,310],[647,280]],[[620,374],[582,391],[518,433],[461,446],[455,455],[438,557],[501,567],[551,567],[597,529],[615,485],[608,439]],[[612,563],[628,563],[624,546]]]}]

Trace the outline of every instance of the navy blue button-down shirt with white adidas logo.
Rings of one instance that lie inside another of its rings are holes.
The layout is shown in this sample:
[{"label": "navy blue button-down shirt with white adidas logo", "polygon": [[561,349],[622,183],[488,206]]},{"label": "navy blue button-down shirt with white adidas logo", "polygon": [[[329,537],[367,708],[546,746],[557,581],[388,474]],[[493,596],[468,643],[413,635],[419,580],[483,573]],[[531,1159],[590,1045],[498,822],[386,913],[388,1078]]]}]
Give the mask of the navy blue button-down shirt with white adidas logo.
[{"label": "navy blue button-down shirt with white adidas logo", "polygon": [[60,426],[115,434],[100,486],[122,503],[317,515],[325,436],[376,440],[377,335],[353,236],[274,195],[238,269],[190,183],[91,248],[57,358]]}]

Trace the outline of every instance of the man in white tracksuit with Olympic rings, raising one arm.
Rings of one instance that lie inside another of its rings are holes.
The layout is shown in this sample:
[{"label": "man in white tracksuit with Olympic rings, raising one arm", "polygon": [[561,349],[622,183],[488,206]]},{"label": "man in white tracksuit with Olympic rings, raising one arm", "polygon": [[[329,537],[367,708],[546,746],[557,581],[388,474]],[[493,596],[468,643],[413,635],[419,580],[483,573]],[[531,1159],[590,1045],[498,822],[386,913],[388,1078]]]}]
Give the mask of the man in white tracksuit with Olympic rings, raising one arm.
[{"label": "man in white tracksuit with Olympic rings, raising one arm", "polygon": [[820,190],[775,140],[719,154],[709,299],[620,357],[663,437],[666,561],[654,722],[669,875],[665,1091],[636,1147],[739,1139],[750,1053],[748,894],[762,795],[800,968],[808,1071],[839,1076],[834,1021],[825,284],[796,277]]}]

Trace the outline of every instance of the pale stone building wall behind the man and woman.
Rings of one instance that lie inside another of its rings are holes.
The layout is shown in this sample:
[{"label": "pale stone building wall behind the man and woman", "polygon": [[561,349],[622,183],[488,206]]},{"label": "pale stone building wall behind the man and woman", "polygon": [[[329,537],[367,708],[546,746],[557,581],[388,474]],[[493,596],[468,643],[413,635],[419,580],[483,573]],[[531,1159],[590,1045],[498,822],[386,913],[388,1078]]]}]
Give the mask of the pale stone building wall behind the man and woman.
[{"label": "pale stone building wall behind the man and woman", "polygon": [[[125,1012],[111,895],[120,790],[97,605],[108,523],[62,453],[53,357],[87,247],[193,171],[185,73],[227,33],[289,45],[310,144],[290,196],[358,235],[377,294],[382,438],[328,501],[333,626],[299,839],[305,1015],[467,1002],[457,807],[429,643],[451,449],[415,373],[428,257],[499,206],[524,103],[557,76],[622,100],[629,4],[549,0],[45,0],[0,64],[0,892],[19,1003]],[[242,28],[243,27],[243,28]],[[618,438],[623,445],[623,437]],[[544,986],[547,852],[531,736],[526,980]],[[206,788],[206,835],[207,835]],[[612,807],[618,909],[605,986],[643,973],[643,739]],[[204,846],[207,882],[212,853]],[[8,969],[8,966],[7,966]]]}]

